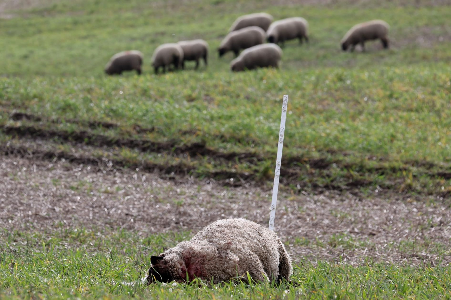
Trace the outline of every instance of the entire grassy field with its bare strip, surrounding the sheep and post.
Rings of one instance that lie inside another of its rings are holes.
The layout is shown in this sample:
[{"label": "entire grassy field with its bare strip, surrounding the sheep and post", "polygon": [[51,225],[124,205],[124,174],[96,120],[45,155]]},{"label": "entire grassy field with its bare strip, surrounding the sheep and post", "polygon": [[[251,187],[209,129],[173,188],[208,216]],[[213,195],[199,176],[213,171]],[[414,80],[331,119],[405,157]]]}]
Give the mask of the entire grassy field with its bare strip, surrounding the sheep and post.
[{"label": "entire grassy field with its bare strip, surrounding the sheep and post", "polygon": [[[0,4],[0,298],[451,297],[451,3],[295,2]],[[216,48],[256,11],[306,18],[310,42],[231,73]],[[341,51],[373,18],[391,48]],[[157,45],[194,38],[207,68],[152,73]],[[143,75],[107,77],[129,49]],[[212,220],[267,223],[284,94],[277,232],[299,286],[141,285],[149,255]]]}]

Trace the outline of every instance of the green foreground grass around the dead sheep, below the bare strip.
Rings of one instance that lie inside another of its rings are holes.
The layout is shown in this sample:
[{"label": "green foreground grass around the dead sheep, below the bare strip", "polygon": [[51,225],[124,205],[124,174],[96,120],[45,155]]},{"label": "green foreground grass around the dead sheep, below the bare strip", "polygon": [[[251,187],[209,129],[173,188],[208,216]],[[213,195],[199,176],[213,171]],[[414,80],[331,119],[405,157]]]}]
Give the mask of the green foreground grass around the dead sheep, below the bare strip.
[{"label": "green foreground grass around the dead sheep, below the bare strip", "polygon": [[451,268],[413,268],[385,263],[350,266],[300,261],[293,281],[299,286],[161,285],[141,283],[149,255],[189,234],[141,236],[133,232],[55,229],[51,233],[2,232],[2,299],[449,299]]}]

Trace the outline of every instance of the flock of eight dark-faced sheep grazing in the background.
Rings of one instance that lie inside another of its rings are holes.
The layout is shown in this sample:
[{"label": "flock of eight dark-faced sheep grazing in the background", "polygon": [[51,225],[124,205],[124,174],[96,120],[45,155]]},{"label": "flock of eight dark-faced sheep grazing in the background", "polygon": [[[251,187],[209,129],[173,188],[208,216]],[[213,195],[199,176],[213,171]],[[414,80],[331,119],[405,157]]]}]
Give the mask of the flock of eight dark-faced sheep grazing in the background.
[{"label": "flock of eight dark-faced sheep grazing in the background", "polygon": [[[229,29],[229,33],[218,47],[219,57],[227,52],[233,52],[235,59],[230,63],[233,72],[252,70],[255,68],[279,68],[282,50],[279,47],[285,41],[299,39],[299,44],[308,42],[308,22],[301,17],[291,17],[273,21],[267,13],[254,13],[240,16]],[[381,40],[385,49],[388,48],[387,37],[389,25],[382,20],[372,20],[359,23],[350,28],[341,40],[343,51],[354,51],[356,45],[365,50],[365,42]],[[266,42],[266,43],[265,43]],[[240,54],[240,51],[241,54]],[[209,46],[207,41],[198,39],[179,41],[159,45],[152,55],[152,67],[155,73],[184,69],[185,61],[195,61],[199,67],[202,59],[207,66]],[[141,74],[143,54],[138,50],[123,51],[113,55],[105,66],[108,75],[122,74],[124,71],[135,70]]]}]

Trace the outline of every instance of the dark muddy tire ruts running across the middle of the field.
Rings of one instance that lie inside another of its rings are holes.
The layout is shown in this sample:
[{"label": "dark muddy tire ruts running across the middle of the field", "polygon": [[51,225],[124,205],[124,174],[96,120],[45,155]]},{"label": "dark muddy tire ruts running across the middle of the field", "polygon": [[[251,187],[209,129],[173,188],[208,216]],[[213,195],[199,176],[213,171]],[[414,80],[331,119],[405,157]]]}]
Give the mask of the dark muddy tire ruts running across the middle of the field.
[{"label": "dark muddy tire ruts running across the middle of the field", "polygon": [[[25,114],[25,113],[18,113],[15,112],[13,114],[10,114],[10,118],[16,121],[20,120],[26,120],[30,122],[43,122],[48,123],[46,119],[43,119],[39,116],[35,116],[32,114]],[[54,121],[54,122],[53,122]],[[78,122],[77,120],[70,120],[71,123],[83,123]],[[62,121],[56,121],[55,119],[52,120],[50,123],[63,123]],[[87,124],[88,126],[92,126],[95,128],[101,127],[108,127],[108,128],[118,128],[118,124],[113,123],[103,123],[103,122],[89,122]],[[167,155],[181,155],[181,156],[187,156],[190,157],[207,157],[213,160],[223,160],[225,162],[238,162],[240,164],[251,164],[256,165],[261,162],[267,161],[268,158],[264,157],[262,155],[256,154],[256,153],[237,153],[237,152],[229,152],[224,153],[221,151],[217,151],[211,148],[208,148],[205,141],[196,142],[191,145],[178,145],[177,141],[169,141],[169,142],[155,142],[150,141],[147,139],[132,139],[132,138],[113,138],[106,135],[96,134],[89,131],[64,131],[64,130],[53,130],[53,129],[47,129],[47,128],[41,128],[33,125],[18,125],[18,126],[0,126],[0,131],[4,132],[7,135],[11,136],[17,136],[20,138],[29,138],[29,139],[36,139],[36,138],[42,138],[45,140],[59,140],[60,142],[69,142],[69,143],[75,143],[75,144],[83,144],[83,145],[90,145],[95,147],[127,147],[130,149],[137,149],[140,152],[144,153],[165,153]],[[51,154],[44,155],[51,156]],[[69,155],[70,156],[70,155]],[[53,157],[59,157],[58,155],[53,154]],[[64,157],[64,155],[63,155]],[[65,158],[65,157],[64,157]],[[65,158],[68,159],[68,158]],[[74,159],[69,157],[70,159]],[[87,161],[88,157],[84,157],[83,161]],[[120,161],[116,160],[115,165],[120,167],[126,167],[131,168],[129,166],[129,163],[127,161]],[[419,164],[422,162],[418,162]],[[304,166],[308,165],[312,169],[317,169],[319,171],[325,171],[321,174],[316,175],[308,175],[312,177],[328,177],[328,173],[326,172],[328,168],[331,167],[332,164],[336,164],[339,168],[354,168],[355,166],[349,163],[345,163],[342,161],[337,161],[333,159],[327,159],[327,158],[319,158],[319,159],[307,159],[304,157],[288,157],[286,159],[282,160],[282,165],[284,168],[281,169],[281,179],[284,178],[285,184],[297,184],[300,188],[304,188],[306,186],[311,188],[323,188],[327,187],[329,189],[333,190],[344,190],[344,189],[353,189],[358,188],[362,186],[371,186],[373,182],[365,180],[365,179],[351,179],[349,182],[341,182],[340,184],[334,184],[333,182],[328,183],[326,186],[319,185],[315,182],[310,183],[304,183],[302,180],[299,180],[299,178],[302,175],[306,175],[304,170]],[[412,164],[415,165],[415,164]],[[429,168],[436,167],[435,164],[429,163],[427,165]],[[135,166],[133,166],[135,167]],[[137,168],[144,168],[144,169],[158,169],[161,173],[166,173],[166,168],[168,166],[163,165],[156,165],[156,164],[150,164],[148,166],[146,165],[140,165],[136,166]],[[177,173],[177,174],[186,174],[187,172],[192,172],[194,168],[192,166],[189,166],[186,164],[184,168],[184,172],[174,172],[173,170],[170,170],[171,172]],[[406,170],[407,168],[402,168],[402,170]],[[426,168],[428,169],[428,168]],[[368,168],[367,170],[363,170],[365,173],[386,173],[386,171],[389,171],[388,173],[392,173],[394,171],[402,171],[402,170],[391,170],[390,168]],[[169,172],[169,171],[168,171]],[[230,171],[202,171],[203,176],[211,176],[211,178],[214,178],[219,181],[225,181],[227,185],[240,185],[241,183],[244,183],[245,181],[253,180],[253,181],[266,181],[269,180],[266,177],[262,177],[261,174],[258,174],[258,170],[253,172],[252,174],[249,173],[235,173]],[[447,170],[439,170],[439,172],[424,172],[425,175],[431,178],[451,178],[451,172],[448,172]],[[230,181],[230,179],[233,179]],[[386,188],[390,188],[391,185],[385,186]]]}]

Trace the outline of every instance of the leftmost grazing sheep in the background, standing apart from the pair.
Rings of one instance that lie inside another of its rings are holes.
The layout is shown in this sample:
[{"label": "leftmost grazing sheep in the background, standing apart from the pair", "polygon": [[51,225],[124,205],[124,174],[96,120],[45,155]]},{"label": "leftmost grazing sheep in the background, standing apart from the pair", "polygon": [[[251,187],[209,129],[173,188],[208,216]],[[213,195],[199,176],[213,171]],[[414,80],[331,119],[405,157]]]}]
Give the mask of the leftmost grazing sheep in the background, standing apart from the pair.
[{"label": "leftmost grazing sheep in the background, standing apart from the pair", "polygon": [[143,54],[138,50],[129,50],[119,52],[110,58],[105,66],[105,73],[108,75],[122,74],[124,71],[136,70],[141,74],[141,65],[143,64]]}]

